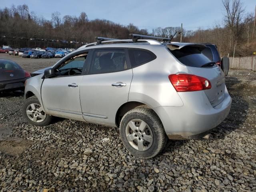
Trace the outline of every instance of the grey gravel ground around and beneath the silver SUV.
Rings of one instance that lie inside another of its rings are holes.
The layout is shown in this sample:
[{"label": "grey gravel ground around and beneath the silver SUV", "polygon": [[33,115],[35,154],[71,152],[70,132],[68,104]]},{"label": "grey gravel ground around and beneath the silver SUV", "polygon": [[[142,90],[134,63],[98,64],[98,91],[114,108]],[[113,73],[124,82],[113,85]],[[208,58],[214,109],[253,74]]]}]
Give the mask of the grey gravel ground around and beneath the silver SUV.
[{"label": "grey gravel ground around and beneath the silver SUV", "polygon": [[129,154],[113,128],[60,118],[32,126],[23,94],[4,94],[0,191],[256,191],[255,81],[255,72],[231,70],[232,108],[210,138],[169,140],[149,160]]}]

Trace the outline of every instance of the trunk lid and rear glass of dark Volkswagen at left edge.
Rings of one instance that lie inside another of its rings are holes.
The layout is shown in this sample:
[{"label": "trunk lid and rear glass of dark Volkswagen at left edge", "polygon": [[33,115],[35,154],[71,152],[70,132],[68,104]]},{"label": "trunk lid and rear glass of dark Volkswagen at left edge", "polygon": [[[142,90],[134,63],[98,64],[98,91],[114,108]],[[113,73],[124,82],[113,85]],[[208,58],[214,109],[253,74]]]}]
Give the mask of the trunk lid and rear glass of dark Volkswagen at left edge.
[{"label": "trunk lid and rear glass of dark Volkswagen at left edge", "polygon": [[25,78],[25,71],[11,60],[0,61],[0,82]]}]

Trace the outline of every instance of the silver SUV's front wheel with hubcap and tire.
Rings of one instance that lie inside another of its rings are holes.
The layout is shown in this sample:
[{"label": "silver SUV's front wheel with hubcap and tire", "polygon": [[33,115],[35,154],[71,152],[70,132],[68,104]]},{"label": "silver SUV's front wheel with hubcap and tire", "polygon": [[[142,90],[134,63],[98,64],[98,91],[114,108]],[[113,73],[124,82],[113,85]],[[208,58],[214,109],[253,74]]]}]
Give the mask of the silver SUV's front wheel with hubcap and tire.
[{"label": "silver SUV's front wheel with hubcap and tire", "polygon": [[44,112],[39,100],[33,96],[28,98],[22,106],[22,115],[32,125],[46,126],[52,122],[52,116]]}]

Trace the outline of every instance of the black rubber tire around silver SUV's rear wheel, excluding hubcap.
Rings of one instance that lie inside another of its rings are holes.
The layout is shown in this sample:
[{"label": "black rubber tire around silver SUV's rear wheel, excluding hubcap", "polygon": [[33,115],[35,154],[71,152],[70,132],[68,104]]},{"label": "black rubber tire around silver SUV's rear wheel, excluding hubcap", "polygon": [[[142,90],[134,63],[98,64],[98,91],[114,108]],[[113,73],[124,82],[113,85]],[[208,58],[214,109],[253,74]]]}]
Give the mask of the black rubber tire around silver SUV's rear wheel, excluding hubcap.
[{"label": "black rubber tire around silver SUV's rear wheel, excluding hubcap", "polygon": [[[126,138],[126,126],[131,120],[134,119],[139,119],[146,122],[148,127],[151,129],[153,141],[150,148],[147,150],[140,151],[135,149]],[[134,108],[124,114],[120,122],[120,136],[126,149],[134,156],[140,158],[152,158],[158,155],[164,149],[168,140],[162,122],[160,121],[157,114],[149,108]]]}]

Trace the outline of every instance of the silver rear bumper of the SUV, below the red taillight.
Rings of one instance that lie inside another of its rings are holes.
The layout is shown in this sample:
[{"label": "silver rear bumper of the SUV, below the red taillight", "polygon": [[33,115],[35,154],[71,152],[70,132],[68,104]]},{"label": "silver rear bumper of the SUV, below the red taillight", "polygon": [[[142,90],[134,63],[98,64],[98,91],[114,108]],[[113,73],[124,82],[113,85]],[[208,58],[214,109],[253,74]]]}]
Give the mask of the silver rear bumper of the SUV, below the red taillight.
[{"label": "silver rear bumper of the SUV, below the red taillight", "polygon": [[181,107],[154,108],[169,139],[194,139],[206,135],[228,116],[232,102],[226,88],[224,100],[215,107],[203,92],[190,92],[186,99],[186,96],[182,97],[184,105]]}]

